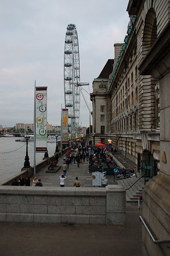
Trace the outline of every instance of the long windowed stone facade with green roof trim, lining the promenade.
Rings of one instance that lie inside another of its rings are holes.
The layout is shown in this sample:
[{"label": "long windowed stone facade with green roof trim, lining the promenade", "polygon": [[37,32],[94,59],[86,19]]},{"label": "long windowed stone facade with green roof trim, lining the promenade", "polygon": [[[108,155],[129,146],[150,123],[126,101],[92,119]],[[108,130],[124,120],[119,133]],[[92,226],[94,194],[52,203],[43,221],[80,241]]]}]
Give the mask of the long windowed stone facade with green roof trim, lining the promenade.
[{"label": "long windowed stone facade with green roof trim, lining the promenade", "polygon": [[138,65],[154,44],[161,24],[156,23],[153,9],[144,19],[147,2],[129,1],[127,35],[114,61],[108,93],[113,146],[150,179],[160,169],[159,82],[142,76]]}]

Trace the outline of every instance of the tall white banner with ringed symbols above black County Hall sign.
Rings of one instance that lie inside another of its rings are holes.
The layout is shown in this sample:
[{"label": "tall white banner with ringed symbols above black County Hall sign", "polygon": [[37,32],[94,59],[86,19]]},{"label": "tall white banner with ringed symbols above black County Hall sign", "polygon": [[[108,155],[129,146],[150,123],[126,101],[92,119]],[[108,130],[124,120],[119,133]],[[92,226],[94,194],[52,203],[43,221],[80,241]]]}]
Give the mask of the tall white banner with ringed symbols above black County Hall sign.
[{"label": "tall white banner with ringed symbols above black County Hall sign", "polygon": [[47,87],[35,87],[36,152],[47,152]]}]

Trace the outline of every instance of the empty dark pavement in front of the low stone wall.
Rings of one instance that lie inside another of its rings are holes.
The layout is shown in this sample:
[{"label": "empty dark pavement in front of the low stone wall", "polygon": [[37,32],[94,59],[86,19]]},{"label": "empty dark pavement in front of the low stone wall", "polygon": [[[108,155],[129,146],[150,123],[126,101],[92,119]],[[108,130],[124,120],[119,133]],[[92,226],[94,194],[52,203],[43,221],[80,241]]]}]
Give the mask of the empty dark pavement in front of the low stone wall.
[{"label": "empty dark pavement in front of the low stone wall", "polygon": [[141,256],[136,208],[126,209],[126,227],[0,222],[0,256]]}]

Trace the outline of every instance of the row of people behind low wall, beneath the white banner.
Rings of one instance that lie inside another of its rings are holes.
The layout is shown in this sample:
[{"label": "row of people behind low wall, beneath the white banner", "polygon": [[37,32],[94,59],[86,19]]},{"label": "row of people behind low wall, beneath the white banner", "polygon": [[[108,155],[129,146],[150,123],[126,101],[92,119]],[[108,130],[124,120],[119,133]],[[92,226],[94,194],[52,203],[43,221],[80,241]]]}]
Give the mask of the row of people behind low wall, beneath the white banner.
[{"label": "row of people behind low wall, beneath the white banner", "polygon": [[[30,186],[30,179],[28,176],[26,176],[26,179],[23,178],[23,176],[21,175],[17,181],[17,179],[14,179],[14,181],[12,182],[12,186]],[[34,179],[32,180],[32,187],[42,187],[42,182],[41,179],[37,179],[37,177],[34,177]]]}]

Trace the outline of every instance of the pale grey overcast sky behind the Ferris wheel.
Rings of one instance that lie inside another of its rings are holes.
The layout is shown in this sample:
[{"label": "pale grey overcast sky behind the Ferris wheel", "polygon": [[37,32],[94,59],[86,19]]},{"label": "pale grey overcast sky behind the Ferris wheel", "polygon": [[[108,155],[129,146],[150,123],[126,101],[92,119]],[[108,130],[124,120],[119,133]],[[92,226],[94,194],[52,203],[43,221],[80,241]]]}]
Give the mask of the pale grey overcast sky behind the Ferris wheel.
[{"label": "pale grey overcast sky behind the Ferris wheel", "polygon": [[[64,39],[76,24],[81,82],[92,82],[123,42],[129,0],[0,0],[0,124],[33,123],[34,83],[47,86],[47,121],[64,107]],[[88,92],[89,89],[85,88]],[[90,87],[92,92],[92,88]],[[84,93],[89,102],[89,95]],[[80,119],[89,126],[81,97]]]}]

